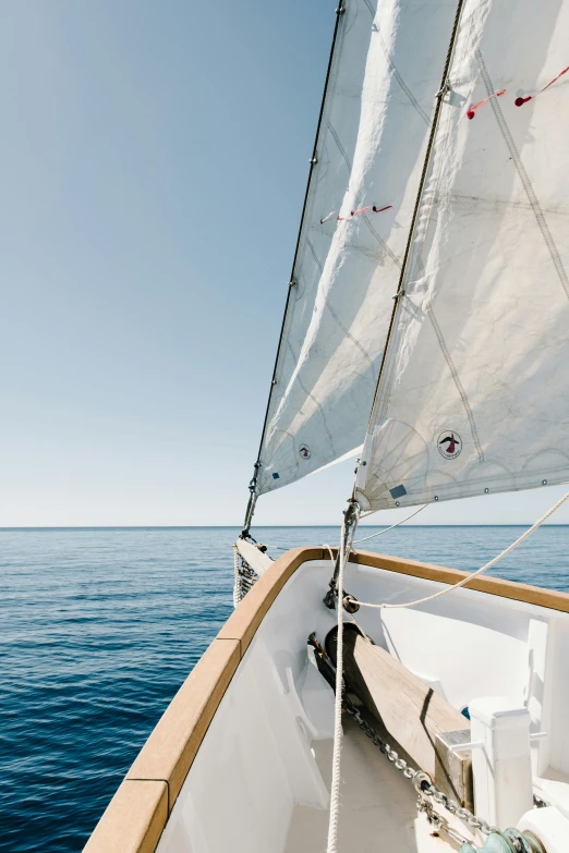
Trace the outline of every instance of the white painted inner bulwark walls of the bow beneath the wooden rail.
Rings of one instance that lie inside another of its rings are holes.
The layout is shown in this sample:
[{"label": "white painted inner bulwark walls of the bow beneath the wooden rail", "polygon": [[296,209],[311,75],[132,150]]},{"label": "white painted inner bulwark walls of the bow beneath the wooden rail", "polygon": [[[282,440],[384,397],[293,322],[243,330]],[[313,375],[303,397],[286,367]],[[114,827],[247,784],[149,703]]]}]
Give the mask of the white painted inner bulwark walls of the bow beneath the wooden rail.
[{"label": "white painted inner bulwark walls of the bow beneath the wooden rail", "polygon": [[[157,853],[283,853],[300,806],[304,821],[315,815],[315,826],[326,822],[329,780],[320,768],[330,743],[332,693],[307,659],[306,639],[315,631],[323,641],[335,624],[322,602],[330,572],[329,561],[306,563],[271,606],[206,733]],[[350,593],[373,601],[412,600],[439,586],[353,564],[346,578]],[[459,589],[421,609],[361,610],[355,618],[375,643],[436,683],[459,709],[488,695],[506,695],[522,710],[526,702],[532,730],[548,731],[552,767],[569,773],[569,614]],[[358,751],[364,777],[374,747],[364,740]],[[354,785],[355,777],[350,771]],[[362,787],[351,793],[363,821]],[[371,814],[365,820],[378,845],[386,825]],[[298,853],[320,849],[308,836]],[[416,834],[410,844],[429,850]],[[344,845],[342,853],[348,851]],[[561,851],[567,845],[547,848]]]}]

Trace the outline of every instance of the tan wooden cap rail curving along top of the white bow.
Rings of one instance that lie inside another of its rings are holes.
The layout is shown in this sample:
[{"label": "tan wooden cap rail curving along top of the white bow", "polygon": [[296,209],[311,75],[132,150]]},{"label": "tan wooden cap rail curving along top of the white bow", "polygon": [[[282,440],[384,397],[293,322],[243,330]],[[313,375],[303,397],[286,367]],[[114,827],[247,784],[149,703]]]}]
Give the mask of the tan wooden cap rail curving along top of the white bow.
[{"label": "tan wooden cap rail curving along top of the white bow", "polygon": [[[292,548],[257,581],[229,617],[150,733],[84,848],[85,853],[154,853],[205,733],[241,659],[278,594],[305,562],[329,560],[327,549]],[[355,551],[350,562],[439,583],[468,572],[398,557]],[[569,595],[496,577],[464,588],[569,613]]]}]

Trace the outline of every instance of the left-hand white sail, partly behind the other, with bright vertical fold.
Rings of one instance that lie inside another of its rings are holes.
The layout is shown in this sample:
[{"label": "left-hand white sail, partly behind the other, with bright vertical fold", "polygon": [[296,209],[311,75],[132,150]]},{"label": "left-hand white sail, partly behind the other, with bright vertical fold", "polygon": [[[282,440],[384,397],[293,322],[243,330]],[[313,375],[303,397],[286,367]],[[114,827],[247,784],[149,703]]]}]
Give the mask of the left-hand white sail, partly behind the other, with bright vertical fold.
[{"label": "left-hand white sail, partly behind the other, with bright vertical fold", "polygon": [[340,19],[257,493],[362,441],[455,12],[350,0]]}]

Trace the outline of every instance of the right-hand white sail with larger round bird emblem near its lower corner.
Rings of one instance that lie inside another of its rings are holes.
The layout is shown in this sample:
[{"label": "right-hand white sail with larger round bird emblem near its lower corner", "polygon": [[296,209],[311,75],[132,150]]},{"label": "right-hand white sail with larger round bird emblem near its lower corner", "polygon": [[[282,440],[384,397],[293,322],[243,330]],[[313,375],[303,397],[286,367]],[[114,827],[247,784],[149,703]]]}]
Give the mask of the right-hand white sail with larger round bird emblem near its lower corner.
[{"label": "right-hand white sail with larger round bird emblem near its lower corner", "polygon": [[569,480],[569,2],[465,0],[364,510]]}]

